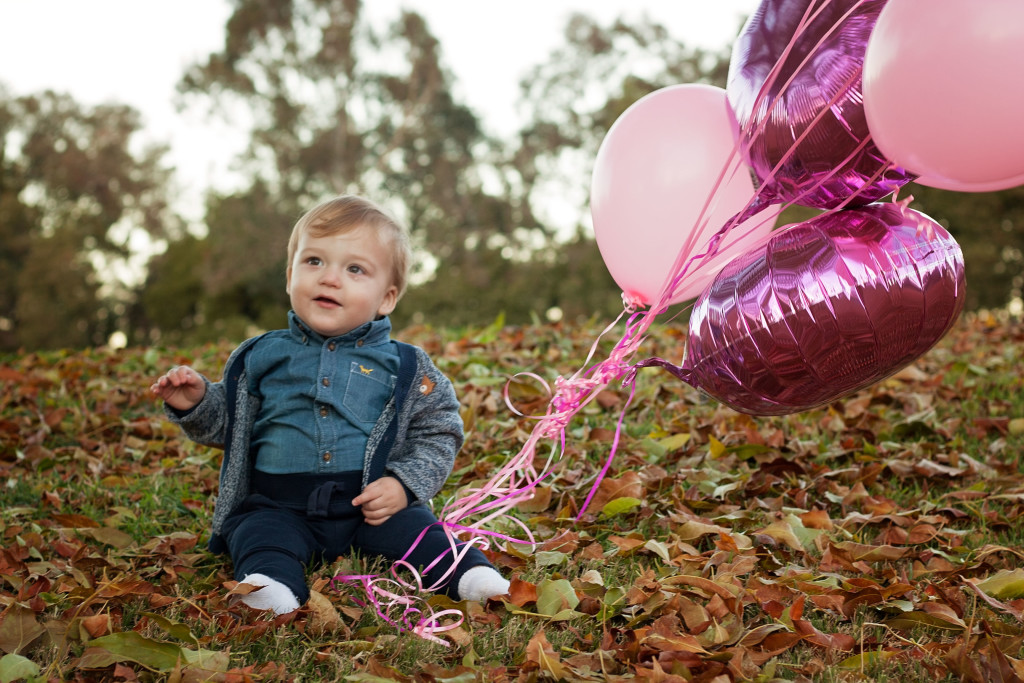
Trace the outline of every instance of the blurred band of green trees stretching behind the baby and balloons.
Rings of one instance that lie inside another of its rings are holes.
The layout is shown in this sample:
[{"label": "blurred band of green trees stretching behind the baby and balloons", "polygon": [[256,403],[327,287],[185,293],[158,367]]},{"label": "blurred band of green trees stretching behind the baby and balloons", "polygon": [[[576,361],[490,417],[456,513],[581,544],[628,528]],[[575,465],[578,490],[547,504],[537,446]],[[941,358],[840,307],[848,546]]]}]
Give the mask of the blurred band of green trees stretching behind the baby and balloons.
[{"label": "blurred band of green trees stretching behind the baby and balloons", "polygon": [[[500,140],[458,99],[416,12],[378,27],[358,0],[232,7],[222,48],[179,84],[182,104],[250,136],[239,187],[207,197],[205,231],[168,209],[164,150],[137,150],[136,112],[0,87],[0,350],[97,345],[116,331],[131,344],[238,341],[281,327],[289,231],[338,193],[368,195],[411,227],[415,285],[398,325],[610,317],[621,293],[587,227],[598,145],[643,95],[723,86],[728,69],[725,50],[692,49],[650,19],[574,15],[520,83],[526,123]],[[911,193],[964,249],[968,308],[1016,310],[1024,189]],[[813,213],[794,207],[778,222]],[[123,282],[139,231],[158,253],[143,282]]]}]

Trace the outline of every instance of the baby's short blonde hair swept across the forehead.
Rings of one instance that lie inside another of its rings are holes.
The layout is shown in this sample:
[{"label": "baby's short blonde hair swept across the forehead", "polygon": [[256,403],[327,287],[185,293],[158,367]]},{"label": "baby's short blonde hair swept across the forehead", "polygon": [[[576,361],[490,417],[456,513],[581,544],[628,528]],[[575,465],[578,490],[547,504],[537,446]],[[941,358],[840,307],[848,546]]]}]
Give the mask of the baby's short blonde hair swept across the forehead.
[{"label": "baby's short blonde hair swept across the forehead", "polygon": [[377,232],[381,244],[391,248],[391,284],[397,288],[397,299],[400,299],[409,285],[409,267],[413,256],[409,232],[380,206],[355,195],[341,195],[322,202],[299,218],[288,240],[289,267],[295,258],[295,250],[302,233],[323,238],[364,225]]}]

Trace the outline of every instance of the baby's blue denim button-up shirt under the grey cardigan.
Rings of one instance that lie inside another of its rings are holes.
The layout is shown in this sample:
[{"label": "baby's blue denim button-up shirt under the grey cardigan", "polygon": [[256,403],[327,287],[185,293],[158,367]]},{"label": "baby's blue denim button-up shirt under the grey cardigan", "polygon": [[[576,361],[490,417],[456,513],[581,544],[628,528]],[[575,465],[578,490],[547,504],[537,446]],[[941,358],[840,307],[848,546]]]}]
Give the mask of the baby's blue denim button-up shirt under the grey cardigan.
[{"label": "baby's blue denim button-up shirt under the grey cardigan", "polygon": [[398,353],[382,318],[325,339],[295,312],[287,335],[246,358],[249,391],[260,398],[253,425],[255,467],[268,474],[362,470],[367,441],[390,399]]}]

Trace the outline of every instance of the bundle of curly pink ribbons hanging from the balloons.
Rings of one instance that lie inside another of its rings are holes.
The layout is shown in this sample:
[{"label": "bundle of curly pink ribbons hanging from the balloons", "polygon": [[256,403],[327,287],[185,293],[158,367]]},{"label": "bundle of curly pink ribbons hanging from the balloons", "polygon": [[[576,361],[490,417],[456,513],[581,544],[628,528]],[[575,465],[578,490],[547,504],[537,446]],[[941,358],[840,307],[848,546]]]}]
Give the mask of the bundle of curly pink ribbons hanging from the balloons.
[{"label": "bundle of curly pink ribbons hanging from the balloons", "polygon": [[[820,12],[829,1],[830,0],[826,0],[826,2],[822,3],[822,5],[819,6],[813,13],[811,8],[808,7],[807,12],[804,14],[795,31],[790,45],[776,61],[776,68],[772,70],[771,74],[769,74],[762,92],[768,91],[773,82],[778,78],[780,67],[788,56],[792,47],[796,44],[800,34],[811,25],[814,18],[818,15],[818,12]],[[849,16],[852,11],[853,8],[844,14],[843,17],[841,17],[840,20],[833,27],[833,31],[838,29],[840,24],[845,20],[845,18]],[[818,45],[825,40],[827,35],[828,34],[820,39]],[[804,61],[801,63],[801,68],[803,68],[803,66],[813,56],[814,51],[814,49],[809,50],[807,56],[804,58]],[[791,76],[791,80],[793,78],[794,76]],[[859,78],[859,73],[855,76],[851,76],[851,78]],[[761,95],[759,94],[759,97]],[[776,98],[780,96],[781,91],[776,94]],[[839,95],[835,95],[833,103],[835,103],[836,97],[839,97]],[[825,108],[825,110],[827,108]],[[518,454],[513,456],[485,483],[478,487],[470,487],[461,490],[460,497],[447,503],[443,507],[441,514],[438,515],[438,523],[441,524],[449,537],[451,552],[454,557],[452,567],[444,572],[443,577],[435,581],[431,586],[425,587],[423,586],[421,574],[417,571],[416,567],[413,567],[403,557],[401,560],[395,562],[391,567],[391,579],[371,574],[339,574],[332,580],[332,585],[335,583],[360,584],[367,595],[367,602],[362,603],[357,601],[358,604],[372,606],[382,620],[399,631],[408,631],[431,642],[449,646],[450,643],[441,638],[440,634],[452,631],[453,629],[461,626],[465,618],[463,613],[458,609],[442,609],[435,611],[421,597],[422,594],[424,592],[436,591],[443,587],[445,582],[450,580],[452,573],[455,571],[455,567],[459,560],[461,560],[471,545],[475,545],[481,550],[487,550],[490,548],[493,540],[501,540],[507,543],[536,546],[536,541],[529,528],[524,522],[514,516],[511,516],[509,514],[510,511],[520,503],[532,499],[537,487],[551,474],[554,464],[561,459],[565,452],[566,428],[575,415],[584,407],[596,398],[597,394],[606,386],[616,380],[623,380],[623,385],[630,388],[630,395],[624,408],[620,412],[609,454],[601,469],[595,476],[594,483],[584,501],[578,516],[583,515],[586,512],[617,453],[618,439],[622,433],[625,416],[635,396],[635,381],[638,370],[644,367],[660,366],[670,370],[670,372],[678,370],[681,373],[685,373],[684,369],[679,369],[678,367],[673,366],[666,360],[662,360],[660,358],[648,358],[636,364],[632,362],[633,356],[637,353],[643,341],[646,339],[647,331],[650,326],[653,325],[655,318],[668,309],[670,302],[674,299],[674,294],[680,291],[685,279],[691,274],[691,271],[696,269],[696,267],[699,267],[700,262],[706,259],[710,260],[718,253],[722,240],[726,237],[726,234],[728,234],[735,226],[739,225],[748,218],[764,210],[776,201],[776,198],[771,196],[772,193],[768,190],[767,187],[771,186],[777,173],[795,154],[797,144],[799,144],[801,140],[803,140],[804,137],[806,137],[813,129],[813,123],[822,118],[824,113],[824,110],[818,112],[815,119],[812,121],[812,125],[808,125],[805,128],[801,137],[795,141],[794,146],[787,151],[786,155],[778,161],[767,177],[764,178],[764,181],[758,187],[746,207],[726,221],[726,224],[709,241],[708,247],[702,252],[695,255],[691,253],[695,246],[692,243],[695,236],[700,233],[700,230],[694,229],[691,231],[687,242],[680,249],[679,255],[673,266],[672,274],[667,278],[666,284],[658,295],[656,304],[644,310],[643,304],[640,300],[631,298],[625,293],[623,294],[623,311],[618,314],[614,322],[608,325],[598,335],[597,340],[594,341],[590,348],[590,352],[588,353],[587,359],[583,364],[585,370],[582,369],[568,378],[556,378],[553,389],[543,378],[532,373],[520,373],[506,383],[504,389],[506,405],[518,417],[536,420],[536,424]],[[764,127],[765,122],[761,121],[754,126],[753,131],[742,132],[752,132],[753,135],[751,135],[751,137],[753,137],[754,135],[763,133]],[[742,137],[744,136],[741,136],[741,138]],[[863,145],[866,145],[869,139],[870,138],[867,137],[858,148],[854,150],[847,157],[847,159],[837,165],[831,174],[823,175],[818,179],[816,184],[813,184],[805,189],[799,197],[787,202],[785,206],[797,204],[799,203],[799,199],[801,197],[809,196],[820,188],[820,186],[823,185],[833,174],[838,172],[840,168],[845,166],[850,160],[859,154]],[[873,181],[878,177],[881,177],[882,174],[892,166],[893,165],[890,164],[889,166],[884,166],[879,169],[874,176],[872,176],[871,180]],[[700,216],[697,220],[698,227],[706,225],[707,221],[713,215],[718,188],[720,188],[728,178],[731,178],[733,174],[739,172],[748,171],[740,160],[739,151],[737,150],[733,152],[732,157],[719,173],[714,189],[710,194],[705,206],[701,209]],[[868,185],[869,183],[866,183],[864,186],[866,187]],[[826,213],[842,210],[857,197],[860,188],[851,194],[851,196],[848,197],[840,206],[829,209]],[[912,198],[900,202],[900,206],[905,206],[910,199]],[[754,228],[751,228],[750,231],[753,231],[753,229]],[[744,239],[745,237],[746,234],[740,234],[739,239]],[[587,364],[592,361],[597,352],[597,346],[601,338],[614,329],[624,315],[629,316],[625,326],[625,333],[612,348],[608,357],[587,368]],[[685,377],[683,375],[679,376],[685,381]],[[535,379],[539,381],[548,391],[550,399],[547,412],[544,415],[526,416],[512,404],[509,397],[509,384],[518,377],[528,377]],[[534,463],[537,455],[537,449],[543,440],[550,440],[553,442],[552,453],[548,457],[544,467],[538,471]],[[472,519],[472,521],[467,521],[470,519]],[[498,522],[499,520],[517,527],[519,531],[521,531],[522,538],[485,528],[494,525],[495,522]],[[424,531],[424,533],[426,531]],[[467,540],[463,541],[463,538],[467,538]],[[422,535],[420,536],[420,539],[422,539]],[[412,552],[418,544],[419,539],[410,548],[410,552]],[[460,550],[460,544],[463,544],[462,550]],[[408,553],[406,557],[408,557]],[[431,562],[430,565],[424,568],[424,571],[428,571],[445,557],[449,557],[447,553],[444,553]],[[404,570],[411,574],[412,581],[406,581],[399,578],[399,570]],[[445,621],[450,618],[454,621]]]}]

